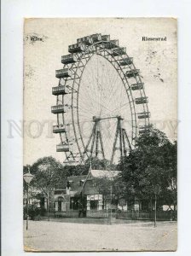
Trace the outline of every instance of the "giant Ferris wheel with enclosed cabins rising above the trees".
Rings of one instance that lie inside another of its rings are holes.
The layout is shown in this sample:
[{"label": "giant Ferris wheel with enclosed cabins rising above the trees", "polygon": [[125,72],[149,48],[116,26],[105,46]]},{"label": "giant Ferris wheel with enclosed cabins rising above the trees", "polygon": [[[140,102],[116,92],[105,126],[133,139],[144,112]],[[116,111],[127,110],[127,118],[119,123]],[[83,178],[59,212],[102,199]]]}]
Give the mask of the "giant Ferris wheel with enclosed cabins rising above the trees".
[{"label": "giant Ferris wheel with enclosed cabins rising above the trees", "polygon": [[109,35],[78,38],[61,56],[52,88],[57,115],[53,132],[61,137],[57,152],[67,165],[83,164],[91,157],[117,163],[148,130],[150,113],[140,70],[133,58]]}]

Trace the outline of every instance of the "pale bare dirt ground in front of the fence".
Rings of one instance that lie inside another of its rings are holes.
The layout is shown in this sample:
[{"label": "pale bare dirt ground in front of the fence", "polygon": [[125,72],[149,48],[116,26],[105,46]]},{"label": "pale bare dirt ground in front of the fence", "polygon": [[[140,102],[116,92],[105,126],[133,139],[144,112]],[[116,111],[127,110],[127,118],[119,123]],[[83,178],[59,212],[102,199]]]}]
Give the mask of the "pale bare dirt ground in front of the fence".
[{"label": "pale bare dirt ground in front of the fence", "polygon": [[24,244],[26,251],[175,251],[177,223],[151,222],[72,223],[59,220],[29,221]]}]

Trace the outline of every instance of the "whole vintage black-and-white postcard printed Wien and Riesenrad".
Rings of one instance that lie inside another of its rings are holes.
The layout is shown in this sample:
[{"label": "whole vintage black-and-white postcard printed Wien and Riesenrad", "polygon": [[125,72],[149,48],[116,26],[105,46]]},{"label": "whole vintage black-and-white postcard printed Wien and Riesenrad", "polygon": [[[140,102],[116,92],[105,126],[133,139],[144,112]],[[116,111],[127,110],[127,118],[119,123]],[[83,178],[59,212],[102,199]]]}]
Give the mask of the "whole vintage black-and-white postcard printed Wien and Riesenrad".
[{"label": "whole vintage black-and-white postcard printed Wien and Riesenrad", "polygon": [[26,19],[28,252],[177,250],[177,20]]}]

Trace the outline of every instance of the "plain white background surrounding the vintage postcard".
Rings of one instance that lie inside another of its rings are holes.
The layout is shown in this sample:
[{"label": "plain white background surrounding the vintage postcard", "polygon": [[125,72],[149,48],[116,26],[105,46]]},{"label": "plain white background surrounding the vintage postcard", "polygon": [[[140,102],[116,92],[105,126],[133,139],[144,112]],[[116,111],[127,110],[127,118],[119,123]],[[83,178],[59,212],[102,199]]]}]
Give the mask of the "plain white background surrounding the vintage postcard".
[{"label": "plain white background surrounding the vintage postcard", "polygon": [[[2,253],[28,255],[22,241],[22,138],[8,138],[8,120],[22,119],[23,18],[177,17],[178,19],[178,249],[191,253],[190,14],[187,0],[2,1]],[[58,253],[51,253],[57,255]],[[67,253],[68,254],[68,253]],[[70,253],[76,254],[76,253]],[[80,253],[81,254],[81,253]],[[142,253],[130,253],[134,256]],[[160,253],[147,253],[158,255]],[[169,253],[163,253],[168,255]],[[49,255],[33,253],[32,255]]]}]

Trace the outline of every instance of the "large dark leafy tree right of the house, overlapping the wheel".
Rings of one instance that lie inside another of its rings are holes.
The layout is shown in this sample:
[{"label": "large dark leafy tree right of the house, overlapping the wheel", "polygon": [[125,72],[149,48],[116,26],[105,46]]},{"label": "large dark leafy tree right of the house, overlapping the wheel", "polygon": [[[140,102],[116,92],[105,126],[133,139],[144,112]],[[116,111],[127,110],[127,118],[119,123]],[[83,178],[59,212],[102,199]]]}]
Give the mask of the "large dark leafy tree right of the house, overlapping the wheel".
[{"label": "large dark leafy tree right of the house, overlapping the wheel", "polygon": [[[126,195],[137,197],[139,200],[154,199],[156,212],[157,198],[165,201],[170,186],[175,191],[177,188],[176,143],[171,143],[165,133],[150,126],[137,139],[136,148],[121,161],[121,169]],[[176,192],[173,195],[176,201]]]}]

